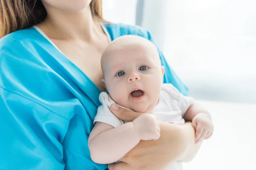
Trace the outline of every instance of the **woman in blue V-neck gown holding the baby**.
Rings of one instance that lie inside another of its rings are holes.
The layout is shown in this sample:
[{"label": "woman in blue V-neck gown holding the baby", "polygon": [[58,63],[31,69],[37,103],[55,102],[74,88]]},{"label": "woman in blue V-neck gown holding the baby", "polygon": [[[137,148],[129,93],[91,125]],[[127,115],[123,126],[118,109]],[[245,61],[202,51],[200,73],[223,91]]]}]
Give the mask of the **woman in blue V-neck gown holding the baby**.
[{"label": "woman in blue V-neck gown holding the baby", "polygon": [[[87,139],[100,105],[100,58],[108,43],[124,34],[152,41],[137,26],[107,23],[101,0],[0,0],[0,169],[104,170],[90,159]],[[20,30],[20,31],[17,31]],[[169,68],[164,82],[187,95]],[[126,121],[140,113],[112,112]],[[199,145],[194,129],[161,125],[157,141],[142,141],[115,170],[161,169],[192,159]]]}]

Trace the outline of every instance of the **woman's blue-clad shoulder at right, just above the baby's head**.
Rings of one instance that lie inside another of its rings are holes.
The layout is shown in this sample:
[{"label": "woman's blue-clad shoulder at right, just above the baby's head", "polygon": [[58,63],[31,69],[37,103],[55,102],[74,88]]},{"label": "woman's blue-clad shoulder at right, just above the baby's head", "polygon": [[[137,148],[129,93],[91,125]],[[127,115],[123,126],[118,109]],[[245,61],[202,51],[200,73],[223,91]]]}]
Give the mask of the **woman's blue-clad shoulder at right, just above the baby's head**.
[{"label": "woman's blue-clad shoulder at right, just above the baby's head", "polygon": [[103,25],[110,34],[112,40],[123,35],[137,35],[148,40],[151,39],[151,34],[140,26],[123,23],[103,23]]}]

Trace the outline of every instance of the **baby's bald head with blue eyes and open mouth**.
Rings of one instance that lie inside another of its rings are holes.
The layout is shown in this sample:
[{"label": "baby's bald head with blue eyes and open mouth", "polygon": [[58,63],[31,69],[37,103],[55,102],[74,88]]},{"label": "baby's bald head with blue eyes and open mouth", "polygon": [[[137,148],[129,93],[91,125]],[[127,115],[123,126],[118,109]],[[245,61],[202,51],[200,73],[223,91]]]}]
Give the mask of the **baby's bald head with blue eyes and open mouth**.
[{"label": "baby's bald head with blue eyes and open mouth", "polygon": [[102,84],[119,105],[149,113],[157,105],[164,68],[156,46],[145,38],[125,35],[102,54]]}]

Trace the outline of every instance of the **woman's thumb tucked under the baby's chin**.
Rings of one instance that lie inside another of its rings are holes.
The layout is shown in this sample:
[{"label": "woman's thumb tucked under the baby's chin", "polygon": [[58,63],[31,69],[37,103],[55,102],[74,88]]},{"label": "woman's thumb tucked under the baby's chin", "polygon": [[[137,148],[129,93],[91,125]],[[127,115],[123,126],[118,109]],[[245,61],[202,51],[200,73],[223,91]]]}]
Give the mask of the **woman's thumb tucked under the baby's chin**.
[{"label": "woman's thumb tucked under the baby's chin", "polygon": [[134,111],[129,111],[124,108],[120,108],[115,104],[110,107],[111,112],[118,118],[127,122],[132,122],[134,119],[142,115],[142,113],[137,113]]}]

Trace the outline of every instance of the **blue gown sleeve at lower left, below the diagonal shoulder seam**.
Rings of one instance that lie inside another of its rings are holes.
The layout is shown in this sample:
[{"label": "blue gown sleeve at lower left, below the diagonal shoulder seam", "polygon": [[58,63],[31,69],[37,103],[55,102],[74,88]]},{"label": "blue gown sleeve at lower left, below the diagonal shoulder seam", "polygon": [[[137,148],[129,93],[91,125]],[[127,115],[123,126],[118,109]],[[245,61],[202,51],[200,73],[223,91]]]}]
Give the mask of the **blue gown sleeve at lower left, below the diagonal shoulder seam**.
[{"label": "blue gown sleeve at lower left, below the diagonal shoulder seam", "polygon": [[68,123],[38,102],[0,87],[0,169],[63,170],[65,133],[57,131]]}]

